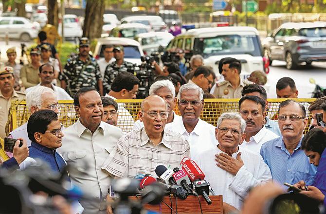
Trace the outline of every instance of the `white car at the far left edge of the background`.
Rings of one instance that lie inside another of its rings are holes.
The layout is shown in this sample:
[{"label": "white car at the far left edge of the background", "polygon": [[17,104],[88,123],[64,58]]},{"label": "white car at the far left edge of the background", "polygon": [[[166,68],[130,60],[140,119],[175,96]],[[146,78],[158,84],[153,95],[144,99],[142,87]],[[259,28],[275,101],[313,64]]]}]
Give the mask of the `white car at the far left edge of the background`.
[{"label": "white car at the far left edge of the background", "polygon": [[0,17],[0,37],[5,37],[6,33],[9,38],[30,41],[37,37],[38,27],[27,18]]}]

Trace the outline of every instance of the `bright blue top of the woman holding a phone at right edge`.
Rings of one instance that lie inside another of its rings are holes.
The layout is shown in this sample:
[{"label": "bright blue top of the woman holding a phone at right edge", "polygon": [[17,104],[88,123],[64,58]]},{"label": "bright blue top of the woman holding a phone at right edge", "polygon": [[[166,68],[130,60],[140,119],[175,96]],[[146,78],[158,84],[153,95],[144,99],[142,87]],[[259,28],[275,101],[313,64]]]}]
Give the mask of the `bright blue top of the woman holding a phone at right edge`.
[{"label": "bright blue top of the woman holding a phone at right edge", "polygon": [[[317,187],[326,196],[326,149],[319,159],[315,182],[312,186]],[[324,206],[326,207],[326,197],[324,199]]]}]

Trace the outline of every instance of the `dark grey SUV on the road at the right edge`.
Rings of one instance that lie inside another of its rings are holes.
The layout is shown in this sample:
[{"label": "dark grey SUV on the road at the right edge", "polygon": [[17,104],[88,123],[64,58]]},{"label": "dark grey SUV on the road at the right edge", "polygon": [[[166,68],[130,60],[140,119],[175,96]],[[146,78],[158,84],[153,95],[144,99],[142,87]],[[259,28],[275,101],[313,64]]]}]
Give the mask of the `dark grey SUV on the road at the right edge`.
[{"label": "dark grey SUV on the road at the right edge", "polygon": [[287,69],[301,62],[326,61],[325,23],[285,23],[262,42],[264,55],[272,60],[285,61]]}]

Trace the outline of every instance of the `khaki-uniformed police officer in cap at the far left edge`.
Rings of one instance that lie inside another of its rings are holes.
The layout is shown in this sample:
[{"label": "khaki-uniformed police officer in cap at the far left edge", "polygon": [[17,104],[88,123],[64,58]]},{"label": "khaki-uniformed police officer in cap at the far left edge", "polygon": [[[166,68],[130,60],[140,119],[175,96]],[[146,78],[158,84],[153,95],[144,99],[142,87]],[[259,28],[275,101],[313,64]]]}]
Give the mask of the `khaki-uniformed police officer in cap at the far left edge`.
[{"label": "khaki-uniformed police officer in cap at the far left edge", "polygon": [[14,100],[24,100],[25,94],[14,90],[15,77],[12,67],[0,69],[0,137],[6,137],[4,127],[8,120],[8,110]]}]

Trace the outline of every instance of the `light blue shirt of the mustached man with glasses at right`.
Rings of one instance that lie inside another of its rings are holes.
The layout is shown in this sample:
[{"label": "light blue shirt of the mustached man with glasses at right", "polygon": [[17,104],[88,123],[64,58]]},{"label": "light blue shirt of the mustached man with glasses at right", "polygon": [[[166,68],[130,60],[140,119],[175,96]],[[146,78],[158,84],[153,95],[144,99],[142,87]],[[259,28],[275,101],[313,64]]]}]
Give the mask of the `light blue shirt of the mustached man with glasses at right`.
[{"label": "light blue shirt of the mustached man with glasses at right", "polygon": [[285,148],[282,137],[275,138],[261,146],[260,155],[270,167],[274,181],[281,184],[294,184],[304,180],[307,185],[313,184],[316,167],[309,163],[309,158],[300,148],[301,140],[292,154]]}]

